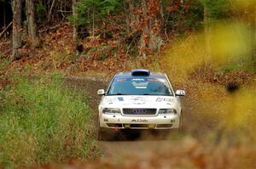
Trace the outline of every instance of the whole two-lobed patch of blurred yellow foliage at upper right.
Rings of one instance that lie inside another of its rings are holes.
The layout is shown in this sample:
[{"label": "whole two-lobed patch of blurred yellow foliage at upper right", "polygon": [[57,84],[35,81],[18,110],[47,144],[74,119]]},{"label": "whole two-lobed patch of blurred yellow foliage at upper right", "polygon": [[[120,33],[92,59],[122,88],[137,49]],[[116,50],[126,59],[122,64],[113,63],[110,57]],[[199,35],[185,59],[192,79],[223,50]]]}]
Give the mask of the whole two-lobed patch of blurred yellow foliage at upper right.
[{"label": "whole two-lobed patch of blurred yellow foliage at upper right", "polygon": [[[210,60],[206,57],[206,36],[210,38]],[[172,43],[160,62],[164,70],[178,82],[187,81],[198,67],[202,67],[201,73],[207,73],[209,65],[218,70],[252,71],[252,54],[253,36],[246,25],[219,22],[211,27],[209,35],[190,35]]]}]

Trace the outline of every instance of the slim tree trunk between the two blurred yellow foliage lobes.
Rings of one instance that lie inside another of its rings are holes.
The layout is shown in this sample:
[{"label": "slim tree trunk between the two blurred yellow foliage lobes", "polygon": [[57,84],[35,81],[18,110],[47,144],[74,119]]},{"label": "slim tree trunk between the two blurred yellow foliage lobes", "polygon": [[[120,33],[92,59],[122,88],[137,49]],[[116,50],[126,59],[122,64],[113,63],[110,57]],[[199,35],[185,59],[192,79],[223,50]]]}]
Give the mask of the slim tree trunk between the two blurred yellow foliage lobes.
[{"label": "slim tree trunk between the two blurred yellow foliage lobes", "polygon": [[205,62],[211,61],[212,52],[211,52],[211,28],[209,25],[210,16],[207,11],[207,8],[204,8],[204,24],[205,24],[205,40],[206,40],[206,59]]}]

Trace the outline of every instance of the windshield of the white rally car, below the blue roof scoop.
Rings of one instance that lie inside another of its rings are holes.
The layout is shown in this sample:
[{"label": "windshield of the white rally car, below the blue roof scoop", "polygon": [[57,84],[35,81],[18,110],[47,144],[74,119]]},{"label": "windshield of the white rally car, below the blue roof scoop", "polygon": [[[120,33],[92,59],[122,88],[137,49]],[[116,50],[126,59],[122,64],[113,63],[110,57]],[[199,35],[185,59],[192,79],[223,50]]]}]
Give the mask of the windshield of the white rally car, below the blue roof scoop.
[{"label": "windshield of the white rally car, below the blue roof scoop", "polygon": [[172,96],[165,78],[117,77],[108,89],[108,95],[164,95]]}]

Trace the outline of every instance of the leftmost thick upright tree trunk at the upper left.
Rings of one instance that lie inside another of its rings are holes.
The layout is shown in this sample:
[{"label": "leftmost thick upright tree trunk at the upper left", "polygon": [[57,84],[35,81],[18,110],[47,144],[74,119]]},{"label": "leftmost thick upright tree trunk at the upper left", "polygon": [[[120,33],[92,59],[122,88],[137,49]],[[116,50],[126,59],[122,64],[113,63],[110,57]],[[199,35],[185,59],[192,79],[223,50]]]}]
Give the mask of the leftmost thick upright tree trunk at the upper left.
[{"label": "leftmost thick upright tree trunk at the upper left", "polygon": [[18,49],[21,47],[21,0],[12,1],[13,9],[13,54],[11,59],[18,57]]}]

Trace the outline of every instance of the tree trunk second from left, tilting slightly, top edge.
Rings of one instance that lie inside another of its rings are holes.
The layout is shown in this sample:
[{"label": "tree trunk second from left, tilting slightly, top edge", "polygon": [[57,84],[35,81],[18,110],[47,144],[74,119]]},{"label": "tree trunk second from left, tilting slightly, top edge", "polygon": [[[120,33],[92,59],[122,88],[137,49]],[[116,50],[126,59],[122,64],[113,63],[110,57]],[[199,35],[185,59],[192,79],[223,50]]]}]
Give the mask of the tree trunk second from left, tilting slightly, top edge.
[{"label": "tree trunk second from left, tilting slightly, top edge", "polygon": [[32,43],[37,42],[37,25],[35,23],[35,10],[33,0],[26,0],[26,20],[28,34]]}]

